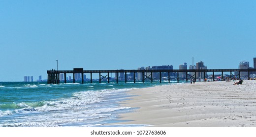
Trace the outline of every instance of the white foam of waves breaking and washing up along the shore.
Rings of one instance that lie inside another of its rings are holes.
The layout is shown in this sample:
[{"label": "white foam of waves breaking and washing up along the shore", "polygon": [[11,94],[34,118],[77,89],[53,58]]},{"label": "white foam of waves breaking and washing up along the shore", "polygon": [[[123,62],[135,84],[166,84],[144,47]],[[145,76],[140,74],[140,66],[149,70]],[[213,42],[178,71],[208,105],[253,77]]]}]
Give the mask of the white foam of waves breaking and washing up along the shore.
[{"label": "white foam of waves breaking and washing up along the shore", "polygon": [[[95,85],[89,86],[92,88]],[[36,85],[26,86],[28,88]],[[61,85],[53,84],[37,86],[58,86],[58,88],[61,88]],[[123,112],[130,109],[129,107],[118,106],[116,100],[123,98],[124,91],[132,89],[135,88],[78,91],[73,93],[72,97],[44,101],[42,105],[37,106],[24,102],[18,103],[17,106],[21,107],[21,109],[0,111],[0,116],[17,114],[15,119],[9,119],[7,123],[6,121],[0,121],[0,127],[100,126],[104,123],[102,122],[104,119],[111,119],[119,111]],[[115,98],[115,96],[118,96],[118,98]]]}]

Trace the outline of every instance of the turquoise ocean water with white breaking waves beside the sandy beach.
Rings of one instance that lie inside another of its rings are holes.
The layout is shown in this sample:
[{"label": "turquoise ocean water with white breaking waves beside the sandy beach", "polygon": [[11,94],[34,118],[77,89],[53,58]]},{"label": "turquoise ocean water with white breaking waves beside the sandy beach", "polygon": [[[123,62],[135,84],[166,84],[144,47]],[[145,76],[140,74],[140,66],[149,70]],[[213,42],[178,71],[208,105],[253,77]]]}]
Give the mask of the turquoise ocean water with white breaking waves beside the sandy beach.
[{"label": "turquoise ocean water with white breaking waves beside the sandy beach", "polygon": [[172,83],[0,82],[0,127],[104,127],[137,109],[119,104],[128,90]]}]

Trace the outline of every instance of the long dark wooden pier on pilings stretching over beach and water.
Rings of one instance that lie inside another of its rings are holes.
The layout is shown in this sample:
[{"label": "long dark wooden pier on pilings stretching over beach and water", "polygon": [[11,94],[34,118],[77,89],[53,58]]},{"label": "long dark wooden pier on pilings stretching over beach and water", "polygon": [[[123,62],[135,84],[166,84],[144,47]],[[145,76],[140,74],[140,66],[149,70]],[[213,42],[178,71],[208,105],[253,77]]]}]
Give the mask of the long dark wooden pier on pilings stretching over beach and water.
[{"label": "long dark wooden pier on pilings stretching over beach and water", "polygon": [[[66,83],[66,73],[72,73],[73,74],[73,83],[75,83],[75,73],[81,73],[82,74],[82,83],[84,83],[84,73],[90,73],[91,74],[91,83],[93,83],[92,75],[93,73],[99,74],[99,83],[102,79],[107,79],[109,83],[109,74],[110,73],[116,73],[116,83],[118,83],[118,74],[119,73],[125,73],[125,83],[127,83],[127,73],[133,73],[133,82],[136,82],[135,79],[135,73],[141,73],[142,74],[142,82],[146,79],[150,79],[151,82],[153,82],[153,73],[159,73],[160,75],[160,83],[162,73],[168,73],[168,82],[170,82],[170,73],[177,73],[177,82],[179,83],[179,73],[186,73],[186,81],[188,82],[189,79],[196,79],[196,73],[203,73],[203,78],[205,79],[206,72],[212,72],[212,77],[214,78],[215,72],[222,72],[222,80],[224,79],[223,73],[224,72],[230,72],[230,76],[238,77],[240,78],[241,72],[247,72],[248,73],[248,79],[250,79],[250,72],[256,72],[255,68],[250,69],[149,69],[149,70],[84,70],[83,68],[74,68],[73,70],[47,70],[48,74],[48,84],[59,84],[60,83],[60,74],[64,73],[64,83]],[[192,72],[193,74],[189,74],[189,72]],[[238,72],[237,75],[232,74],[232,72]],[[107,75],[102,75],[102,73],[107,73]],[[213,79],[214,80],[214,79]]]}]

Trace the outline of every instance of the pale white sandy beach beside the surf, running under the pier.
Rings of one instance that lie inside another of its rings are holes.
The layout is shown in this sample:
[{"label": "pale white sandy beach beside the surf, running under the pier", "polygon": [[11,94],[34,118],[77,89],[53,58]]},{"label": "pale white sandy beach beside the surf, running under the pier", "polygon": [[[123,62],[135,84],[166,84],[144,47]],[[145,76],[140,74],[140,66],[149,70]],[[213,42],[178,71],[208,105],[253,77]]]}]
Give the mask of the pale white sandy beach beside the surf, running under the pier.
[{"label": "pale white sandy beach beside the surf, running under the pier", "polygon": [[122,102],[139,108],[121,114],[118,124],[153,127],[256,127],[256,81],[196,82],[129,91]]}]

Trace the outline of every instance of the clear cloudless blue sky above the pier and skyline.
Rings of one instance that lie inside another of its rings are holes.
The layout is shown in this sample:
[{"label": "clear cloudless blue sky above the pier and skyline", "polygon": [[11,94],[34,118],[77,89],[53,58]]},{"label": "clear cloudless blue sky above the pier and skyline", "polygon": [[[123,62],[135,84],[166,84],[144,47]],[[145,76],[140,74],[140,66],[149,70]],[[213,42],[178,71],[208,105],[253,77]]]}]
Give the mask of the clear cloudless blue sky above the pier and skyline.
[{"label": "clear cloudless blue sky above the pier and skyline", "polygon": [[256,0],[0,0],[0,81],[256,57]]}]

